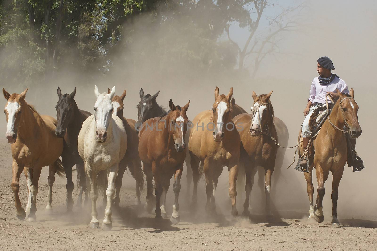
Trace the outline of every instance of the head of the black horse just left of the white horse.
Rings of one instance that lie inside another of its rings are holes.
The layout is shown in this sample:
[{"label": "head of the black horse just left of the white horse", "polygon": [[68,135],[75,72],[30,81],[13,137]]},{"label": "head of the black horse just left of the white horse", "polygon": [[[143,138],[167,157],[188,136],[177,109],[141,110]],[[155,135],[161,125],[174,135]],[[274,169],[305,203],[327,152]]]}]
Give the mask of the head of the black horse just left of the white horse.
[{"label": "head of the black horse just left of the white horse", "polygon": [[58,138],[63,138],[67,131],[67,126],[70,122],[74,120],[75,117],[75,90],[71,94],[61,94],[60,87],[58,87],[58,97],[59,100],[55,106],[56,109],[56,119],[58,120],[55,134]]}]

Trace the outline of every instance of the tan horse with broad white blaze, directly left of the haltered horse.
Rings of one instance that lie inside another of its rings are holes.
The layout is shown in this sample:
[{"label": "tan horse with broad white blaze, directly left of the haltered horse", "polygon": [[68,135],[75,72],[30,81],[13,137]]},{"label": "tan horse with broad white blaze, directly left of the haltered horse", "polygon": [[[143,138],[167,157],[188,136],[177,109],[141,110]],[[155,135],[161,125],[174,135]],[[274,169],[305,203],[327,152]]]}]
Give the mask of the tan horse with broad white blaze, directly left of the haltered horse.
[{"label": "tan horse with broad white blaze, directly left of the haltered horse", "polygon": [[[236,180],[238,174],[240,137],[234,128],[231,118],[231,98],[233,88],[229,94],[219,95],[219,88],[215,90],[215,103],[212,110],[202,111],[193,120],[194,128],[190,130],[189,152],[193,171],[193,204],[197,204],[197,187],[199,176],[204,172],[207,193],[207,211],[215,211],[215,192],[218,178],[224,166],[229,173],[229,196],[232,204],[232,215],[237,215],[236,208]],[[199,129],[201,128],[201,129]],[[201,161],[200,170],[199,161]],[[212,194],[213,192],[213,194]]]}]

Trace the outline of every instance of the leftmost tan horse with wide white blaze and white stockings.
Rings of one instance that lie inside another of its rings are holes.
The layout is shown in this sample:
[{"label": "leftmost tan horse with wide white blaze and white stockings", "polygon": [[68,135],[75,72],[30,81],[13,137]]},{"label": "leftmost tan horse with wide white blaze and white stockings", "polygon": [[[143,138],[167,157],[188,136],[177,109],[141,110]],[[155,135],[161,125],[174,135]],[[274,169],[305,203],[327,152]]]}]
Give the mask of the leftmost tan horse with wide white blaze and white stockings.
[{"label": "leftmost tan horse with wide white blaze and white stockings", "polygon": [[[7,121],[6,138],[12,148],[12,190],[14,193],[16,215],[18,219],[25,219],[25,210],[21,207],[18,197],[20,190],[19,179],[21,172],[25,172],[28,180],[29,199],[26,212],[30,212],[27,221],[36,221],[35,199],[38,193],[38,180],[42,167],[49,167],[48,175],[48,199],[46,209],[51,210],[52,185],[55,181],[55,173],[64,172],[59,159],[63,151],[63,139],[57,138],[55,128],[57,121],[47,115],[40,115],[33,106],[25,101],[26,92],[21,94],[9,94],[3,89],[3,94],[8,102],[4,113]],[[25,167],[25,169],[24,169]]]}]

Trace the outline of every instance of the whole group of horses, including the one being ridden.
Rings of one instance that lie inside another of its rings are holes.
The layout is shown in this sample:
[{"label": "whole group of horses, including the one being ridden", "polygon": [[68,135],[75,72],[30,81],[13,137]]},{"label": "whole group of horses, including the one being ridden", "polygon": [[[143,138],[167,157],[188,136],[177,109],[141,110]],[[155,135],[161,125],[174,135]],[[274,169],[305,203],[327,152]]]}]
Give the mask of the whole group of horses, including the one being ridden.
[{"label": "whole group of horses, including the one being ridden", "polygon": [[[137,105],[137,122],[123,117],[126,90],[121,96],[116,96],[115,87],[109,89],[107,93],[100,93],[95,86],[97,100],[94,104],[94,114],[91,114],[78,108],[74,99],[76,88],[71,94],[62,94],[58,87],[58,102],[55,107],[57,119],[40,115],[34,106],[29,105],[25,101],[27,91],[28,89],[21,94],[9,94],[3,89],[7,100],[4,110],[7,121],[6,138],[11,143],[13,157],[11,186],[18,219],[25,219],[28,213],[27,221],[36,221],[35,199],[43,166],[49,166],[46,210],[52,210],[52,186],[55,173],[58,175],[65,173],[67,210],[72,211],[74,165],[77,168],[77,184],[80,187],[77,204],[82,204],[83,193],[85,193],[85,202],[88,202],[90,195],[92,220],[89,227],[91,228],[100,226],[96,206],[100,192],[103,192],[104,204],[106,204],[102,228],[112,228],[112,207],[120,203],[120,189],[126,167],[136,181],[138,204],[141,204],[140,195],[141,190],[144,189],[145,174],[147,187],[145,208],[150,213],[155,206],[156,218],[166,217],[166,193],[170,187],[170,179],[174,176],[175,199],[170,218],[173,224],[180,221],[178,198],[184,162],[187,166],[189,188],[193,181],[194,209],[197,204],[198,181],[204,173],[207,194],[205,208],[208,213],[215,212],[218,178],[223,167],[226,166],[229,175],[231,214],[238,215],[236,181],[245,179],[246,196],[242,215],[248,216],[253,176],[257,168],[262,167],[265,170],[264,177],[262,176],[265,181],[265,210],[267,213],[271,212],[271,175],[274,167],[281,165],[275,163],[276,157],[279,154],[284,156],[285,149],[279,146],[285,145],[288,138],[288,130],[284,122],[274,117],[270,101],[272,91],[259,96],[253,92],[252,113],[248,114],[236,105],[232,97],[233,88],[230,88],[229,93],[225,95],[219,94],[219,88],[216,87],[212,108],[202,111],[190,121],[186,115],[190,100],[184,106],[176,106],[170,99],[170,110],[167,111],[156,102],[159,92],[145,95],[141,89],[140,102]],[[345,99],[340,92],[338,95],[339,99],[334,105],[330,119],[340,128],[344,124],[351,128],[360,128],[353,89],[350,91],[351,98]],[[339,227],[336,204],[339,181],[347,156],[345,137],[328,121],[322,128],[314,139],[316,152],[310,173],[305,173],[310,198],[309,217],[315,218],[317,222],[323,221],[324,183],[331,171],[334,176],[331,194],[332,224],[334,227]],[[285,142],[277,143],[278,135]],[[359,135],[354,136],[359,137]],[[313,168],[316,168],[318,181],[318,197],[314,207]],[[21,207],[18,197],[19,178],[22,172],[25,173],[29,192],[26,211]],[[155,188],[155,197],[153,188]]]}]

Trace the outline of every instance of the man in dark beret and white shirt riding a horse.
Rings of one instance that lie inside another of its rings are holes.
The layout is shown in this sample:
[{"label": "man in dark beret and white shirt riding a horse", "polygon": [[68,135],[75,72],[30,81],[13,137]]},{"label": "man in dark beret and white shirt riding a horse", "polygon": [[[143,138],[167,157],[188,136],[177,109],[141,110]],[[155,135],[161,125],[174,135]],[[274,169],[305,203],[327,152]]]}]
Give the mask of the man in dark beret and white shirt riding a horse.
[{"label": "man in dark beret and white shirt riding a horse", "polygon": [[[313,79],[310,88],[310,96],[308,99],[308,105],[304,110],[304,122],[302,123],[302,144],[304,147],[304,151],[308,148],[308,143],[311,138],[312,132],[309,128],[309,121],[310,117],[314,112],[314,109],[317,106],[326,105],[326,95],[328,94],[331,99],[336,100],[338,98],[338,94],[336,93],[336,89],[338,89],[343,94],[349,94],[348,87],[343,79],[339,78],[336,74],[331,73],[331,70],[335,70],[333,62],[328,57],[322,57],[317,59],[317,72],[319,74],[318,77]],[[327,98],[329,108],[331,108],[332,103],[330,99]],[[335,101],[334,101],[335,102]],[[349,139],[349,137],[348,137]],[[356,139],[351,138],[350,141],[347,140],[347,143],[351,143],[352,145],[352,153],[351,149],[349,149],[348,154],[348,166],[355,165],[362,165],[362,160],[359,159],[356,152],[353,151],[355,149]],[[354,154],[354,156],[352,156]],[[309,147],[308,149],[308,160],[309,162],[313,161],[313,148]],[[301,170],[305,170],[307,167],[307,160],[303,159],[299,162]],[[362,168],[361,168],[362,169]],[[360,170],[361,170],[360,169]]]}]

